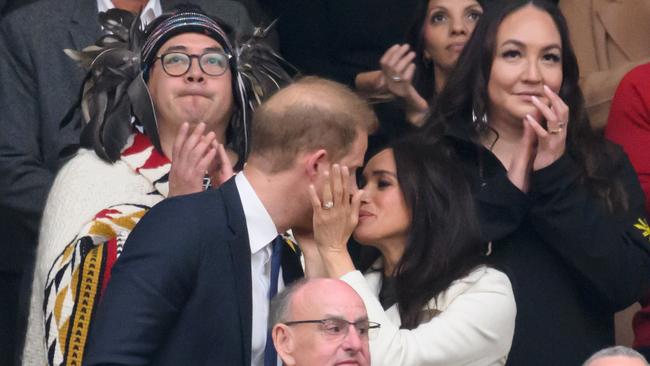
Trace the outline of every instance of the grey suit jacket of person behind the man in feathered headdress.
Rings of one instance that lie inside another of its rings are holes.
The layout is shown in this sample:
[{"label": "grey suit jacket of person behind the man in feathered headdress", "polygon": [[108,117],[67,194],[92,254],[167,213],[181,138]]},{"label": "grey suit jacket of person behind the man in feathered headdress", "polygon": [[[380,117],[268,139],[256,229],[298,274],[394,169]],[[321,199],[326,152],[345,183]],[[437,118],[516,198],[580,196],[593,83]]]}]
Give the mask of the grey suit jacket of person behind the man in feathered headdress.
[{"label": "grey suit jacket of person behind the man in feathered headdress", "polygon": [[[187,0],[161,0],[169,10]],[[246,9],[231,0],[190,0],[246,33]],[[60,122],[80,95],[85,75],[63,49],[81,49],[100,36],[96,0],[41,0],[0,22],[0,364],[10,365],[18,288],[31,283],[40,217],[62,151],[79,139],[78,117]],[[25,279],[27,277],[27,279]],[[24,286],[28,287],[28,286]],[[22,297],[28,299],[28,297]],[[19,330],[18,333],[21,333]]]}]

